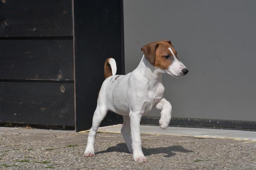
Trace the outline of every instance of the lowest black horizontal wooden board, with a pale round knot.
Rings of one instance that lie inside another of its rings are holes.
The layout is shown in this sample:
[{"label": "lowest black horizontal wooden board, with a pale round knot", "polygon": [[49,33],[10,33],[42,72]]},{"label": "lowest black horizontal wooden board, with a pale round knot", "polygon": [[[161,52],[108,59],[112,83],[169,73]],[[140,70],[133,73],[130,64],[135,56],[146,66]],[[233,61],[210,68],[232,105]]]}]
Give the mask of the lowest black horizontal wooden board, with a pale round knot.
[{"label": "lowest black horizontal wooden board, with a pale round knot", "polygon": [[0,82],[0,122],[74,126],[70,82]]}]

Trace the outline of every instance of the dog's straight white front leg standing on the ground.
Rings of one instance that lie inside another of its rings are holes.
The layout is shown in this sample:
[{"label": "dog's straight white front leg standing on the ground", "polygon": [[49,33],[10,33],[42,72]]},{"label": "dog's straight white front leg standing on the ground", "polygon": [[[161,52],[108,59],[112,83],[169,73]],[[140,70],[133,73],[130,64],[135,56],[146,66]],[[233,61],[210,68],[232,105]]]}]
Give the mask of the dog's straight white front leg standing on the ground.
[{"label": "dog's straight white front leg standing on the ground", "polygon": [[131,119],[131,147],[133,151],[134,161],[146,162],[147,159],[142,152],[140,139],[140,119],[142,113],[131,112],[129,113],[129,116]]}]

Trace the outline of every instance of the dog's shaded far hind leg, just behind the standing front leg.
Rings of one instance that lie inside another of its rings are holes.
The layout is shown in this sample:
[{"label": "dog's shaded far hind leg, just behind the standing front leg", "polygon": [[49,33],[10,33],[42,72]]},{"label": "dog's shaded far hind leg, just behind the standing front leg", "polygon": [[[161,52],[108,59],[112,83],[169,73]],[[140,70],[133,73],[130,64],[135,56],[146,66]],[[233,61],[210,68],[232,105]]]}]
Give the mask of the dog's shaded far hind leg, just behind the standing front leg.
[{"label": "dog's shaded far hind leg, just behind the standing front leg", "polygon": [[132,147],[131,147],[131,123],[130,123],[130,117],[129,115],[123,116],[123,125],[121,129],[121,133],[123,138],[125,139],[125,143],[128,147],[128,150],[130,153],[132,153]]}]

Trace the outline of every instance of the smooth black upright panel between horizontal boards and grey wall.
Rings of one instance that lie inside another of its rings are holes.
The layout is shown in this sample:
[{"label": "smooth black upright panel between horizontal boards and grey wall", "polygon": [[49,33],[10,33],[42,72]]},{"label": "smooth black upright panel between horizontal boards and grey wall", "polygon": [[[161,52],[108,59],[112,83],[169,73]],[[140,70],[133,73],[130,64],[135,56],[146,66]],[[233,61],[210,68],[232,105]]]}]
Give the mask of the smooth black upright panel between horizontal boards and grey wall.
[{"label": "smooth black upright panel between horizontal boards and grey wall", "polygon": [[[121,2],[74,0],[77,131],[92,125],[105,60],[115,58],[117,74],[124,74]],[[121,122],[122,116],[108,113],[102,125]]]}]

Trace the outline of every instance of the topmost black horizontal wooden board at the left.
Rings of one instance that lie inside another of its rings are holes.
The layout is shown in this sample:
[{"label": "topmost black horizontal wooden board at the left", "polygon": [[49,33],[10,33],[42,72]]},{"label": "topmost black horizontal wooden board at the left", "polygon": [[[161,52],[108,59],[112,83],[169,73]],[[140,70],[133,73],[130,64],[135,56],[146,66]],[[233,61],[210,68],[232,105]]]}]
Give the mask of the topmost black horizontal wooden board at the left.
[{"label": "topmost black horizontal wooden board at the left", "polygon": [[72,0],[1,0],[0,37],[72,36]]}]

